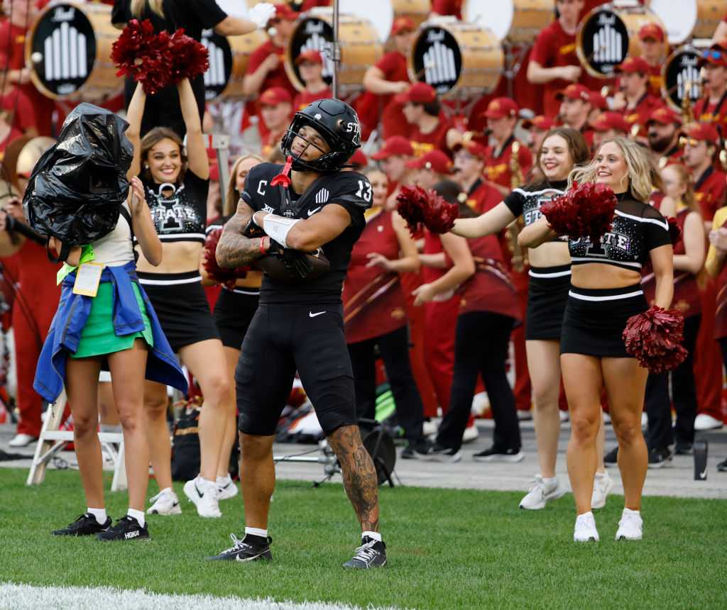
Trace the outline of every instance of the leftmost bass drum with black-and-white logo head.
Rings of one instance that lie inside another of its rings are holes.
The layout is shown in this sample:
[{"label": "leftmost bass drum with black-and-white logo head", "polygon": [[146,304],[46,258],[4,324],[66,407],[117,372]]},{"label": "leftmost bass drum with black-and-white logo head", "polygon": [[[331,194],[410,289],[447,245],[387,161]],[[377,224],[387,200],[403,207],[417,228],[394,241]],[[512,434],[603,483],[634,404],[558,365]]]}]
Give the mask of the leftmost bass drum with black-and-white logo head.
[{"label": "leftmost bass drum with black-and-white logo head", "polygon": [[108,4],[52,4],[25,38],[25,64],[36,88],[52,99],[99,102],[121,91],[111,45],[119,31]]}]

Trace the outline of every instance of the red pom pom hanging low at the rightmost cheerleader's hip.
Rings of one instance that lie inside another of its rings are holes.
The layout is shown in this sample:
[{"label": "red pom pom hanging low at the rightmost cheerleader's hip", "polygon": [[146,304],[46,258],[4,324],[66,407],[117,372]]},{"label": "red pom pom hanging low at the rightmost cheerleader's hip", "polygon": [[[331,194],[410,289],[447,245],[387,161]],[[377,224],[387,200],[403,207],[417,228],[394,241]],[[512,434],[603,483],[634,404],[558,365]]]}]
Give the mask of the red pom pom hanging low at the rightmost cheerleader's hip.
[{"label": "red pom pom hanging low at the rightmost cheerleader's hip", "polygon": [[626,351],[651,373],[674,370],[687,357],[682,346],[684,316],[677,309],[652,306],[629,318],[623,338]]}]

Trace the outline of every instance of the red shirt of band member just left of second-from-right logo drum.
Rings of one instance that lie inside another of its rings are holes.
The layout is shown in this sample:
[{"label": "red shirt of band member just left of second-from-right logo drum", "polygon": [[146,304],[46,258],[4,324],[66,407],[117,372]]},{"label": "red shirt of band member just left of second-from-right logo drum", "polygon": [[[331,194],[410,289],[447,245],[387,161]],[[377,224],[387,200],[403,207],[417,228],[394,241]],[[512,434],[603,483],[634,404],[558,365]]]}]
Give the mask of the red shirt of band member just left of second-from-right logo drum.
[{"label": "red shirt of band member just left of second-from-right logo drum", "polygon": [[[576,37],[566,33],[560,21],[553,21],[535,39],[530,61],[538,62],[542,68],[581,65],[576,55]],[[608,84],[608,81],[587,76],[585,70],[579,82],[589,89],[595,90]],[[555,91],[565,89],[569,84],[569,81],[564,81],[562,78],[556,78],[554,81],[543,84],[543,114],[545,116],[552,118],[558,114],[561,110],[561,102],[555,99]]]}]

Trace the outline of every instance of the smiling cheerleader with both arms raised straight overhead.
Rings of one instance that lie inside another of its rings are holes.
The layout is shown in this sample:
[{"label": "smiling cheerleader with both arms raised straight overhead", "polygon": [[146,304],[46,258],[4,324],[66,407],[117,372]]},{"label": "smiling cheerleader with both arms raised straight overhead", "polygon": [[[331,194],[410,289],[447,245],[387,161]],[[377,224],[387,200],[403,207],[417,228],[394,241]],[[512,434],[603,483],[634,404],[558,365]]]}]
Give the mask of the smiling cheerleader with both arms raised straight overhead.
[{"label": "smiling cheerleader with both arms raised straight overhead", "polygon": [[[230,456],[222,455],[227,423],[235,412],[227,361],[220,333],[209,311],[199,275],[206,227],[209,161],[192,88],[187,79],[177,85],[187,130],[187,147],[170,129],[156,127],[139,139],[146,95],[137,86],[129,105],[134,142],[132,171],[140,172],[164,263],[153,267],[142,256],[139,278],[159,316],[169,343],[198,381],[204,395],[199,418],[200,473],[187,481],[185,495],[203,517],[220,517],[217,473],[228,471]],[[147,383],[144,390],[150,460],[160,492],[149,513],[177,514],[172,489],[171,446],[166,424],[166,387]]]}]

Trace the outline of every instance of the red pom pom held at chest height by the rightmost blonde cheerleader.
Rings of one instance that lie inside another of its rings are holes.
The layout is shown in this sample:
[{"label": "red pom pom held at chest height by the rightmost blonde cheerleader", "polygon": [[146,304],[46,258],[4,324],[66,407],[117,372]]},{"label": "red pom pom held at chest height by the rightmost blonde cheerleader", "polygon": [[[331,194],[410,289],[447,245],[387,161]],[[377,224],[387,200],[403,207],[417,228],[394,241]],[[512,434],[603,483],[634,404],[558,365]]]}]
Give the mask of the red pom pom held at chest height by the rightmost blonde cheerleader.
[{"label": "red pom pom held at chest height by the rightmost blonde cheerleader", "polygon": [[606,184],[573,184],[565,195],[540,208],[559,235],[589,237],[593,243],[611,230],[616,210],[616,195]]}]

